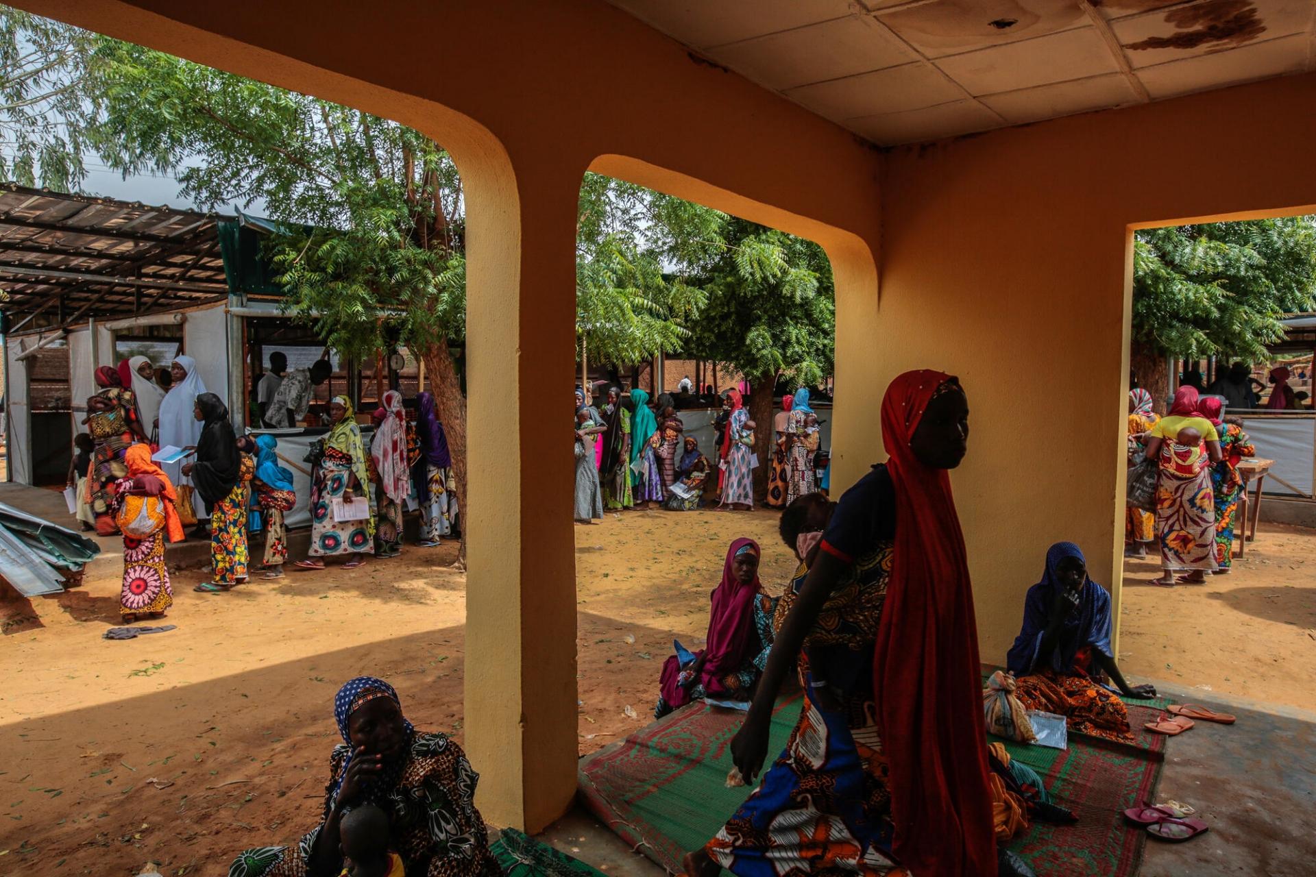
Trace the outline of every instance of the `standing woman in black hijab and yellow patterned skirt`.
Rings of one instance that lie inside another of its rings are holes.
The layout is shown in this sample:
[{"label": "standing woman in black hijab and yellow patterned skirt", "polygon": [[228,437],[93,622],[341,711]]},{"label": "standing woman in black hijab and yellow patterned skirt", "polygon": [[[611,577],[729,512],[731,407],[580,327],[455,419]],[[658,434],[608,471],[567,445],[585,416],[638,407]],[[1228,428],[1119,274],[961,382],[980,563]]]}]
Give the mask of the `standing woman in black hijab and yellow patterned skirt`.
[{"label": "standing woman in black hijab and yellow patterned skirt", "polygon": [[254,467],[243,467],[245,455],[238,450],[229,409],[218,396],[197,396],[195,415],[205,423],[196,444],[196,462],[184,465],[183,475],[191,476],[211,513],[213,569],[212,580],[197,585],[196,590],[216,593],[247,577],[246,485]]}]

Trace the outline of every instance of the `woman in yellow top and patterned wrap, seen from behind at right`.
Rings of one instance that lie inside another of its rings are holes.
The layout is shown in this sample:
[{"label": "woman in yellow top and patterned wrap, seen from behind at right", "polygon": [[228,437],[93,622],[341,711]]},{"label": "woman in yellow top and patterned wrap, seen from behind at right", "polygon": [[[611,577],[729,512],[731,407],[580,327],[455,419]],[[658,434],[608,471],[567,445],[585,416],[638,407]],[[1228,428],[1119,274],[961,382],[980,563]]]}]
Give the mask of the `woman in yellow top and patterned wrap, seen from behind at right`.
[{"label": "woman in yellow top and patterned wrap, seen from behind at right", "polygon": [[1148,459],[1157,460],[1155,534],[1161,544],[1161,577],[1166,588],[1178,581],[1202,584],[1216,569],[1216,506],[1211,465],[1221,460],[1220,434],[1202,415],[1198,391],[1180,387],[1170,413],[1146,434]]}]

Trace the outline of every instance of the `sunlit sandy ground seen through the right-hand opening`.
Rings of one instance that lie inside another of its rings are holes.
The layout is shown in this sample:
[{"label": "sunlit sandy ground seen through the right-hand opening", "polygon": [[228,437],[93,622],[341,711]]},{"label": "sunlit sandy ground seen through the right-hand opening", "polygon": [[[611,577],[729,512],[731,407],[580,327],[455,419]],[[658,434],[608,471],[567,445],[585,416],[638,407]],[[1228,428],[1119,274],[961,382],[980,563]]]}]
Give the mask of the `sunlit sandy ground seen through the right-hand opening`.
[{"label": "sunlit sandy ground seen through the right-hand opening", "polygon": [[[1236,543],[1237,544],[1237,543]],[[1316,710],[1316,530],[1262,523],[1233,572],[1161,588],[1124,564],[1125,676]]]}]

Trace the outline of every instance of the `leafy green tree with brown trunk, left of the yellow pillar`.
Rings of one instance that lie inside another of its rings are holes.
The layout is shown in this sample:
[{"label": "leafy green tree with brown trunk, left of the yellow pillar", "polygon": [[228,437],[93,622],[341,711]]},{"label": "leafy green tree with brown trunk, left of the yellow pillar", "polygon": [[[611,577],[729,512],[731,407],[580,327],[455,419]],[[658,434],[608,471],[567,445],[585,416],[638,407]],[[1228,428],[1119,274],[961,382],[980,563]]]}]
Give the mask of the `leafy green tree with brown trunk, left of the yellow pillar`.
[{"label": "leafy green tree with brown trunk, left of the yellow pillar", "polygon": [[461,183],[418,131],[347,107],[99,38],[96,147],[125,174],[168,171],[203,208],[263,201],[286,309],[340,354],[405,344],[425,363],[466,498]]}]

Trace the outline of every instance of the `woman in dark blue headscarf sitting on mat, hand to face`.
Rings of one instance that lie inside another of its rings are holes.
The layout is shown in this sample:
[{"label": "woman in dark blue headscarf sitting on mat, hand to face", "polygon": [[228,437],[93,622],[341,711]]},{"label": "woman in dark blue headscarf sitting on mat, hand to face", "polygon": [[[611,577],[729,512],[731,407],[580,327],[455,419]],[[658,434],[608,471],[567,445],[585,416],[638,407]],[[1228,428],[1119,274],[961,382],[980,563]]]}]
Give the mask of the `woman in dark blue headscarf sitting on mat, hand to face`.
[{"label": "woman in dark blue headscarf sitting on mat, hand to face", "polygon": [[1132,743],[1129,711],[1101,677],[1124,697],[1155,697],[1150,685],[1129,685],[1111,651],[1111,596],[1087,577],[1087,561],[1073,542],[1046,552],[1042,580],[1028,589],[1024,627],[1007,659],[1019,677],[1015,696],[1029,710],[1057,713],[1071,731]]}]

